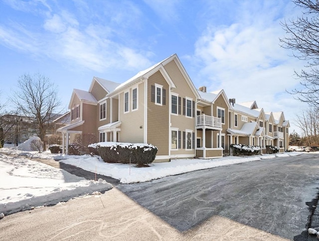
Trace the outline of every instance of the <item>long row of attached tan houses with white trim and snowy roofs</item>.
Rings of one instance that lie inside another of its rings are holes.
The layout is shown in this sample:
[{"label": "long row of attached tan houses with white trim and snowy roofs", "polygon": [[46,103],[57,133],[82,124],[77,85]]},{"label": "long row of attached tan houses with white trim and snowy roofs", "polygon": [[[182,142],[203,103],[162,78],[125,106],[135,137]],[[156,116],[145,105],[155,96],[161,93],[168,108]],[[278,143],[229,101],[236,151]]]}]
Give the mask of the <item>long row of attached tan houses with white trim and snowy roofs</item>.
[{"label": "long row of attached tan houses with white trim and snowy roofs", "polygon": [[156,161],[222,157],[232,143],[288,149],[283,113],[197,90],[176,54],[122,84],[93,77],[89,91],[73,90],[69,109],[70,124],[58,129],[66,152],[76,135],[84,144],[151,143]]}]

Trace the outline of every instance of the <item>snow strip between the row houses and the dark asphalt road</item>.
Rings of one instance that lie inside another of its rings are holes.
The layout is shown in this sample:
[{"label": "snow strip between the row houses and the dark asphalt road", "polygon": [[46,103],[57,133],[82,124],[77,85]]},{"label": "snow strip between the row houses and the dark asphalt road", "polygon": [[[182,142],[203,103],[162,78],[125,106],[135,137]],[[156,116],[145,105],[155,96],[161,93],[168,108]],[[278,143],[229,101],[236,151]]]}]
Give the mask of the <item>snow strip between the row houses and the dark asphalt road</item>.
[{"label": "snow strip between the row houses and the dark asphalt road", "polygon": [[247,157],[223,157],[217,159],[184,159],[171,160],[170,162],[152,163],[150,167],[136,168],[134,165],[121,163],[105,163],[104,161],[95,157],[85,157],[79,160],[78,157],[71,157],[69,159],[60,160],[65,164],[80,167],[86,171],[110,176],[120,180],[121,183],[132,184],[139,182],[148,182],[160,179],[166,176],[173,176],[191,171],[204,170],[218,166],[226,166],[232,164],[239,164],[250,161],[260,161],[262,159],[296,156],[301,155],[302,152],[296,153],[277,153],[266,154],[258,156]]}]

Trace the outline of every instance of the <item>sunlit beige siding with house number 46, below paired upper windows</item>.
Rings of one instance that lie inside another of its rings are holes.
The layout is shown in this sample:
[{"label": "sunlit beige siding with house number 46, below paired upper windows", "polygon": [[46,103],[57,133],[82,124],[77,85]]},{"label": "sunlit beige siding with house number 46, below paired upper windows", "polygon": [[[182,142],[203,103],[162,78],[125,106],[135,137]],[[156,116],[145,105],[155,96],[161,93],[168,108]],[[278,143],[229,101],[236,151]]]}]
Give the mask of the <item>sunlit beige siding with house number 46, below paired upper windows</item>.
[{"label": "sunlit beige siding with house number 46, below paired upper windows", "polygon": [[[134,86],[133,88],[136,88]],[[129,91],[129,112],[124,113],[124,93]],[[125,90],[119,97],[119,116],[122,121],[120,131],[121,142],[144,142],[144,83],[138,85],[138,110],[132,111],[132,87]],[[140,128],[140,126],[143,126]]]}]

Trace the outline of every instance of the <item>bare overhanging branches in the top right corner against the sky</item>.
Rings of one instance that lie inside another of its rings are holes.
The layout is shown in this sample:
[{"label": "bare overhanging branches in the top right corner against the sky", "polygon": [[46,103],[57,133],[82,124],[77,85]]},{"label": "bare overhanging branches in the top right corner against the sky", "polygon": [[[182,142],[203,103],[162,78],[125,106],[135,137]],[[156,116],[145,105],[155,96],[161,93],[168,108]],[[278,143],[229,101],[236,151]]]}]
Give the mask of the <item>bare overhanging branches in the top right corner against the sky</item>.
[{"label": "bare overhanging branches in the top right corner against the sky", "polygon": [[281,22],[287,35],[280,39],[281,46],[293,50],[293,56],[307,61],[305,69],[295,75],[302,89],[292,90],[297,99],[319,106],[319,1],[292,0],[301,7],[303,16]]}]

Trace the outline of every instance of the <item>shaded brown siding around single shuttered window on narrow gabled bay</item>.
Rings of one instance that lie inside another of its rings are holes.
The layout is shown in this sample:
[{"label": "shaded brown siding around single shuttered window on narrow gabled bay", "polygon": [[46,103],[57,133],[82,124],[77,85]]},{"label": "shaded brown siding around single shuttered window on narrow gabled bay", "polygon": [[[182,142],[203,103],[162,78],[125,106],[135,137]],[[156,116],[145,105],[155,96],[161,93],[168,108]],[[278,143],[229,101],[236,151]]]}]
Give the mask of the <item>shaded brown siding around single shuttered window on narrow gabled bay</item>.
[{"label": "shaded brown siding around single shuttered window on narrow gabled bay", "polygon": [[[151,86],[159,84],[166,90],[166,105],[151,102]],[[168,155],[169,148],[169,87],[160,71],[148,79],[148,143],[158,147],[157,155]],[[172,126],[176,127],[176,126]]]}]

